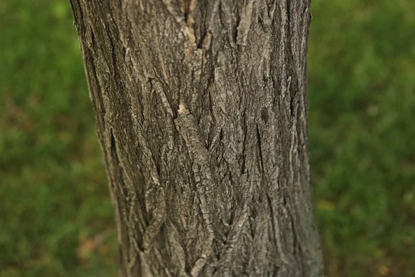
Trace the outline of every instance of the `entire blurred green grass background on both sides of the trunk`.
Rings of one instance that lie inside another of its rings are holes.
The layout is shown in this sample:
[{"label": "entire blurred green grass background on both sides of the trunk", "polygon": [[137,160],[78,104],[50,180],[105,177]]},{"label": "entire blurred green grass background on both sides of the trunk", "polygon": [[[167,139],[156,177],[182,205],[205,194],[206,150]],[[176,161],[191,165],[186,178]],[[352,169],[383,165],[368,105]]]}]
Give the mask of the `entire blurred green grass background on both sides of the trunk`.
[{"label": "entire blurred green grass background on both sides of the trunk", "polygon": [[[313,0],[311,170],[326,276],[415,276],[415,2]],[[0,1],[0,277],[116,276],[68,0]]]}]

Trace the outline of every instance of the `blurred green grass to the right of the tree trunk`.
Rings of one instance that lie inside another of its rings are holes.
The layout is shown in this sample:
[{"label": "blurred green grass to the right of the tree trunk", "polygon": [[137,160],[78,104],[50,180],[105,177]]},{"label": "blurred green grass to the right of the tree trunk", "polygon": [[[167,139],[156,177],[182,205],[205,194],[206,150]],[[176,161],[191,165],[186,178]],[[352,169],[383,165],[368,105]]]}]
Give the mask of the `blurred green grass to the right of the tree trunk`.
[{"label": "blurred green grass to the right of the tree trunk", "polygon": [[329,276],[415,276],[415,3],[313,1],[311,168]]}]

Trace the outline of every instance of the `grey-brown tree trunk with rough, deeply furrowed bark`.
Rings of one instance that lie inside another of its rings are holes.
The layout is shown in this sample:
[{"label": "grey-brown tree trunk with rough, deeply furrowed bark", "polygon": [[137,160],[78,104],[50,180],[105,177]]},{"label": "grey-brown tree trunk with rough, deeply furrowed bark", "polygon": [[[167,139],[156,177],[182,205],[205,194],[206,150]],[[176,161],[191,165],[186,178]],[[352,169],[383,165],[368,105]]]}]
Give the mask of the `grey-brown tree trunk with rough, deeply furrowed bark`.
[{"label": "grey-brown tree trunk with rough, deeply furrowed bark", "polygon": [[322,276],[310,0],[71,0],[122,276]]}]

